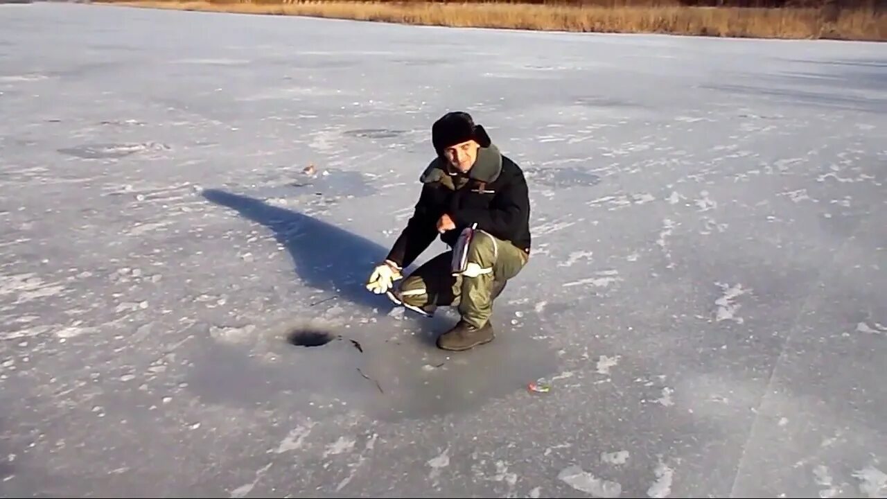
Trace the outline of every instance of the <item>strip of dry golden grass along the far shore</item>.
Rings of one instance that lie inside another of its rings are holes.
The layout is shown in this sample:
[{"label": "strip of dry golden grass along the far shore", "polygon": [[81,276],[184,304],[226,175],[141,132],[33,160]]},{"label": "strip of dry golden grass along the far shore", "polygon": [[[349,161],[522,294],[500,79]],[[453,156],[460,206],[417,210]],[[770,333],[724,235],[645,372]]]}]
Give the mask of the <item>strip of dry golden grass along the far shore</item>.
[{"label": "strip of dry golden grass along the far shore", "polygon": [[[220,2],[98,0],[188,11],[303,15],[466,28],[517,28],[600,33],[669,33],[760,38],[887,41],[887,12],[857,8],[826,20],[817,8],[690,7],[679,5],[554,5],[429,2]],[[830,21],[830,22],[829,22]]]}]

